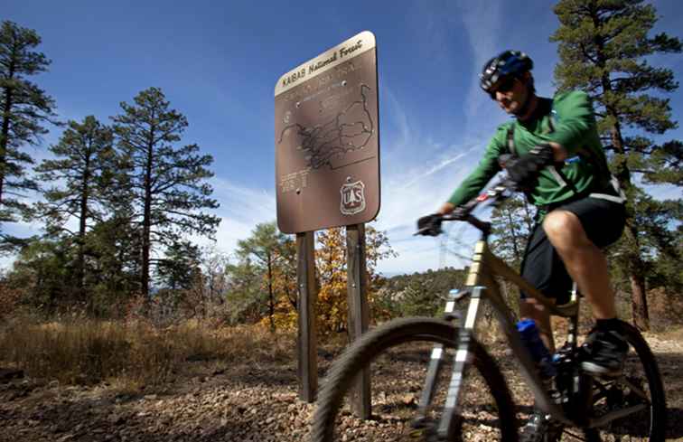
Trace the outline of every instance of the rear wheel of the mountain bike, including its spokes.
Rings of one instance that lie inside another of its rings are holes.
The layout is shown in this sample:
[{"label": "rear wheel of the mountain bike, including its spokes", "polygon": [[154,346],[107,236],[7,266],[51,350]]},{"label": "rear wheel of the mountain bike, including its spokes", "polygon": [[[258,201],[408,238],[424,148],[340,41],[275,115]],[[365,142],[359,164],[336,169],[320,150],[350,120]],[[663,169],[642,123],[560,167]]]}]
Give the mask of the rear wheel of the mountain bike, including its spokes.
[{"label": "rear wheel of the mountain bike, including its spokes", "polygon": [[586,439],[592,442],[663,442],[667,406],[660,369],[640,332],[626,323],[622,323],[622,330],[631,349],[621,377],[613,381],[594,381],[594,415],[599,418],[607,412],[632,407],[641,407],[641,410],[615,419],[604,428],[586,431]]}]

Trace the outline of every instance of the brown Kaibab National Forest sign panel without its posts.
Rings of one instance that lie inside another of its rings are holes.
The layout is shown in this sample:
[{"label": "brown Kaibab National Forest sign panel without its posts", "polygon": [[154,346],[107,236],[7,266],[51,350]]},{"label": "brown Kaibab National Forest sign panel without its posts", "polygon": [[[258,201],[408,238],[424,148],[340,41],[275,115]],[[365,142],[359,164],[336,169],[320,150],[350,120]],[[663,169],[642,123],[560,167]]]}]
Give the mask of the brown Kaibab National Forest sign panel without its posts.
[{"label": "brown Kaibab National Forest sign panel without its posts", "polygon": [[277,80],[280,230],[327,229],[377,216],[378,123],[377,49],[368,31]]}]

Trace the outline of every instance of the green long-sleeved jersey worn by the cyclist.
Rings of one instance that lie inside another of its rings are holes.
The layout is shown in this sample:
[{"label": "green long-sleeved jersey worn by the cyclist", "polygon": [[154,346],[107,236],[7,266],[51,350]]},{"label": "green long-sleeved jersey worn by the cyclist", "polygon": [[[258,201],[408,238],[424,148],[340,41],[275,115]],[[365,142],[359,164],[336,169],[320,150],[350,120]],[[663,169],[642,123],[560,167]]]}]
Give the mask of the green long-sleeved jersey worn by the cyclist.
[{"label": "green long-sleeved jersey worn by the cyclist", "polygon": [[572,91],[557,94],[554,99],[539,99],[534,114],[527,121],[515,119],[498,127],[482,161],[449,202],[458,206],[470,201],[501,171],[498,157],[511,153],[510,138],[516,155],[524,155],[532,147],[550,141],[563,146],[568,154],[565,163],[540,172],[536,187],[527,195],[530,202],[538,206],[553,204],[606,186],[610,173],[588,95]]}]

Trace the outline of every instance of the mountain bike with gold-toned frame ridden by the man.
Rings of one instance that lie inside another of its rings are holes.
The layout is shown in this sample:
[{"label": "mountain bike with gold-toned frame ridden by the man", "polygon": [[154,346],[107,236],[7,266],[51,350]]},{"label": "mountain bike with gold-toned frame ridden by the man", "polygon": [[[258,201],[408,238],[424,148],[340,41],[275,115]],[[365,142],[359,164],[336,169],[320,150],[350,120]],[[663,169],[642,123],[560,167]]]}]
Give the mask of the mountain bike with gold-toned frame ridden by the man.
[{"label": "mountain bike with gold-toned frame ridden by the man", "polygon": [[[580,370],[582,352],[577,341],[580,296],[576,288],[572,290],[569,303],[556,306],[491,252],[488,244],[491,223],[476,218],[472,211],[483,202],[496,204],[503,201],[513,189],[513,184],[502,181],[467,203],[462,212],[443,217],[443,221],[465,221],[481,232],[481,238],[474,248],[465,287],[462,290],[451,291],[443,319],[396,319],[379,325],[351,344],[332,365],[326,377],[313,417],[313,442],[373,440],[363,438],[359,432],[351,433],[350,437],[349,433],[344,431],[359,424],[349,423],[350,413],[342,410],[343,398],[352,393],[357,374],[369,370],[371,362],[379,364],[381,370],[387,371],[387,367],[398,363],[377,362],[381,360],[382,355],[391,352],[397,345],[407,343],[408,350],[413,350],[417,347],[416,344],[415,347],[412,346],[414,343],[422,342],[434,343],[428,356],[424,386],[416,404],[403,407],[405,404],[400,402],[406,401],[398,400],[397,409],[403,410],[395,412],[400,425],[398,434],[393,436],[396,437],[394,440],[519,440],[516,406],[508,383],[501,373],[499,364],[474,335],[475,325],[482,310],[482,301],[488,301],[491,305],[494,317],[507,338],[511,353],[519,362],[519,371],[533,394],[535,407],[541,410],[547,419],[543,434],[530,437],[527,435],[529,440],[555,442],[564,436],[581,439],[575,435],[576,429],[583,432],[583,440],[592,442],[622,440],[622,437],[626,436],[640,437],[640,440],[652,442],[664,440],[666,400],[660,371],[650,347],[638,330],[630,324],[622,323],[630,350],[620,377],[603,379],[584,373]],[[495,277],[512,282],[546,306],[552,315],[568,320],[566,343],[557,351],[555,357],[557,375],[552,385],[541,379],[529,350],[520,340],[514,315],[501,296]],[[464,316],[459,315],[454,306],[467,299],[469,303],[464,309],[466,313]],[[450,358],[446,357],[447,353],[452,353]],[[422,363],[425,359],[424,355],[418,356],[416,361]],[[444,364],[448,362],[451,363],[451,375],[448,380],[444,380]],[[372,380],[374,382],[376,378]],[[388,388],[394,388],[394,385],[399,383],[398,380],[399,378],[394,378],[388,381]],[[440,387],[437,387],[440,384],[447,384],[445,396]],[[475,398],[472,404],[469,404],[476,409],[474,414],[469,413],[468,403],[465,403],[464,399],[464,393],[470,385],[475,385],[469,388],[469,392],[473,391]],[[478,399],[478,395],[484,387],[488,389],[490,398],[482,401]],[[409,387],[408,390],[413,388]],[[379,396],[388,397],[388,394],[382,396],[383,394],[380,393]],[[443,402],[441,408],[435,405],[435,397],[439,395]],[[400,395],[398,397],[400,398]],[[491,414],[495,412],[498,418],[491,418]],[[405,413],[412,416],[407,417]],[[491,431],[492,425],[497,428]],[[335,429],[339,430],[340,426],[341,433],[335,433]],[[381,434],[375,437],[390,440],[385,436]]]}]

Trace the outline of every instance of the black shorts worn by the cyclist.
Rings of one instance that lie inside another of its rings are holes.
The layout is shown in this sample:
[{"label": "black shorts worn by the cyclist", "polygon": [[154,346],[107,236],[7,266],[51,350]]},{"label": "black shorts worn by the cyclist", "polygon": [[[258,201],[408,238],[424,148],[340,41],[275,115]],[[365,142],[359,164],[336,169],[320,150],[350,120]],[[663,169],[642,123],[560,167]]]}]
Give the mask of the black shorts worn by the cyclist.
[{"label": "black shorts worn by the cyclist", "polygon": [[[601,249],[619,240],[626,221],[622,203],[594,197],[567,202],[554,210],[574,213],[581,221],[588,239]],[[569,301],[572,278],[566,272],[557,250],[547,239],[540,222],[529,235],[521,275],[544,295],[555,298],[558,305]],[[521,297],[525,298],[526,294],[522,292]]]}]

